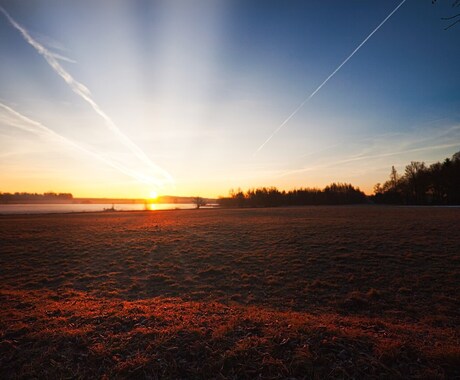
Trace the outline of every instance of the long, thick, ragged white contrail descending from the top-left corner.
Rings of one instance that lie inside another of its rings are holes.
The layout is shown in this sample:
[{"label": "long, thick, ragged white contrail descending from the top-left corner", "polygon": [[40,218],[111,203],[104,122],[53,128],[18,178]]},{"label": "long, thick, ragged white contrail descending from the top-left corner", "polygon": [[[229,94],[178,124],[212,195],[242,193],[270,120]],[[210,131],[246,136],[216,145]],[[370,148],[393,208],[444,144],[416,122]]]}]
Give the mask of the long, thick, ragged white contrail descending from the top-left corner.
[{"label": "long, thick, ragged white contrail descending from the top-left corner", "polygon": [[78,96],[80,96],[83,100],[85,100],[93,110],[104,120],[105,125],[108,127],[110,131],[112,131],[118,139],[128,147],[134,155],[140,159],[142,162],[147,164],[149,167],[154,169],[157,173],[161,173],[170,183],[173,183],[173,178],[171,175],[164,169],[160,168],[159,166],[155,165],[147,155],[133,142],[126,136],[118,126],[113,122],[113,120],[99,107],[99,105],[93,100],[90,91],[88,88],[83,85],[82,83],[75,80],[58,62],[58,58],[56,54],[50,52],[46,49],[42,44],[32,38],[30,33],[20,24],[18,24],[9,14],[8,12],[0,6],[0,11],[5,15],[8,19],[10,24],[17,29],[24,39],[35,48],[35,50],[45,58],[46,62],[53,68],[53,70],[62,78],[64,81],[70,86],[73,92],[75,92]]}]

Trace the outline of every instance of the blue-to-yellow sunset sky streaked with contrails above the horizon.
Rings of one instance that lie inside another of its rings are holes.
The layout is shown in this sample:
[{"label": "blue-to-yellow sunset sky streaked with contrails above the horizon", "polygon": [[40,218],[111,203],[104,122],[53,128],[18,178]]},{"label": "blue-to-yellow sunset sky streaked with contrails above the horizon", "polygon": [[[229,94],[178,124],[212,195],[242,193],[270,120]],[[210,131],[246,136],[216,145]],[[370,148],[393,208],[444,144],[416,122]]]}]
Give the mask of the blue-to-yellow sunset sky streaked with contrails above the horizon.
[{"label": "blue-to-yellow sunset sky streaked with contrails above the horizon", "polygon": [[0,192],[370,194],[460,150],[450,4],[0,0]]}]

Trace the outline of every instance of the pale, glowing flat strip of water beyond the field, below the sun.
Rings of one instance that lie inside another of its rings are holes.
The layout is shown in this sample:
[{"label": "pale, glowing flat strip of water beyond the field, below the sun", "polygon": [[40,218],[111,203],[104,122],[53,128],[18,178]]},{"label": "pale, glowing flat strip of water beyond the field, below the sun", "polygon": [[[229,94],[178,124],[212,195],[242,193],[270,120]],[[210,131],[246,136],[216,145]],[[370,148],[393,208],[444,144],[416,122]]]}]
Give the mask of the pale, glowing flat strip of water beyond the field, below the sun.
[{"label": "pale, glowing flat strip of water beyond the field, below the sun", "polygon": [[[0,205],[0,214],[49,214],[49,213],[69,213],[69,212],[95,212],[111,208],[112,204],[81,204],[81,203],[52,203],[52,204],[11,204]],[[146,205],[136,203],[114,204],[116,211],[140,211],[145,210]],[[148,204],[147,209],[155,210],[175,210],[192,209],[196,206],[193,203],[161,203]]]}]

